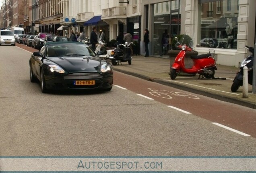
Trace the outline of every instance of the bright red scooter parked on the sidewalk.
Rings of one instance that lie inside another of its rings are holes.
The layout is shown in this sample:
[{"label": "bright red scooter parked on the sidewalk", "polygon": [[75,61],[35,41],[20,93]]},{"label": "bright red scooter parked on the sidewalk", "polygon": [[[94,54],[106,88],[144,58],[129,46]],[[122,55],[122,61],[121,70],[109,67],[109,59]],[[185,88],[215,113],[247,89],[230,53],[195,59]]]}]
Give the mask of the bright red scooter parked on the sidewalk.
[{"label": "bright red scooter parked on the sidewalk", "polygon": [[192,75],[196,75],[198,73],[198,78],[200,78],[200,76],[202,76],[202,78],[214,78],[215,70],[217,70],[215,59],[212,57],[212,54],[215,54],[214,51],[210,53],[209,50],[209,54],[191,55],[190,58],[193,60],[194,64],[192,68],[185,68],[184,58],[186,56],[186,52],[193,51],[190,47],[192,40],[188,46],[186,44],[182,45],[184,38],[181,43],[178,41],[177,37],[175,37],[175,40],[179,44],[175,46],[181,50],[171,66],[171,79],[175,79],[180,72],[185,72]]}]

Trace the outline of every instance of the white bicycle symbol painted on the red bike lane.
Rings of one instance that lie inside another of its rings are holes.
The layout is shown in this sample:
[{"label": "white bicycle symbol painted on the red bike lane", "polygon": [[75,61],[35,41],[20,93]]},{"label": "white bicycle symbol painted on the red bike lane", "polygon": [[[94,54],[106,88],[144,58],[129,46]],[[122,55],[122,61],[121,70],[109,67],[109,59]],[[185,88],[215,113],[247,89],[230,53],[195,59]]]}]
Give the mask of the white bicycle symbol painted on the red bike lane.
[{"label": "white bicycle symbol painted on the red bike lane", "polygon": [[171,92],[171,91],[167,91],[165,89],[151,89],[148,88],[150,90],[149,94],[155,96],[155,97],[161,97],[164,99],[172,99],[172,96],[180,96],[180,97],[188,97],[190,99],[200,99],[199,97],[192,95],[192,94],[188,94],[188,93],[182,93],[182,92]]}]

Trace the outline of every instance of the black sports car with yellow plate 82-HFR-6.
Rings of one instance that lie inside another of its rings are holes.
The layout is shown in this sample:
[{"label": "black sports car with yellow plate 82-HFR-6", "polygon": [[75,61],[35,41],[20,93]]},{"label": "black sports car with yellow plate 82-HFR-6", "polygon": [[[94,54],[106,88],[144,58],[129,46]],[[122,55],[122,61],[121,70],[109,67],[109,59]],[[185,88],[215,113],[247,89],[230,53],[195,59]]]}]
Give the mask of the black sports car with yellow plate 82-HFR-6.
[{"label": "black sports car with yellow plate 82-HFR-6", "polygon": [[30,81],[40,81],[42,93],[48,89],[101,89],[110,91],[113,68],[86,44],[51,42],[29,59]]}]

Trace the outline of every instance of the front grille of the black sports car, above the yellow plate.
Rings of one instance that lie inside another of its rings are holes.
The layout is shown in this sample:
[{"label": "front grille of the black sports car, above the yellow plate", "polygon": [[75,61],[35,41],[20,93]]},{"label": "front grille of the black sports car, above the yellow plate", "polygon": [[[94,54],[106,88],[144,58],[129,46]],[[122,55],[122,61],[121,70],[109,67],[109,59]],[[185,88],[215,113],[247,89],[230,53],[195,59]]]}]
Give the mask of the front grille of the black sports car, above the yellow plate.
[{"label": "front grille of the black sports car, above the yellow plate", "polygon": [[87,72],[87,73],[70,73],[64,76],[64,79],[101,79],[103,76],[99,73]]}]

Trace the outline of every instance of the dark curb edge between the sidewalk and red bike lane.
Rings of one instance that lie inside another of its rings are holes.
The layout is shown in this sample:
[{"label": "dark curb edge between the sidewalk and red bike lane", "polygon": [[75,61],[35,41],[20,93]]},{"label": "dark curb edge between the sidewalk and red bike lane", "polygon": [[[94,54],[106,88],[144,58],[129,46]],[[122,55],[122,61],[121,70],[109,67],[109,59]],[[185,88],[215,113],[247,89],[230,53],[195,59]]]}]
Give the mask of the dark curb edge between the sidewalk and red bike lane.
[{"label": "dark curb edge between the sidewalk and red bike lane", "polygon": [[142,74],[137,74],[137,73],[134,73],[134,72],[128,72],[126,70],[118,69],[118,68],[115,68],[115,67],[113,67],[113,68],[114,68],[114,70],[116,70],[118,72],[122,72],[124,74],[135,76],[135,77],[138,77],[138,78],[141,78],[141,79],[149,80],[151,82],[156,82],[156,83],[163,84],[163,85],[173,87],[173,88],[176,88],[176,89],[181,89],[181,90],[188,91],[188,92],[191,92],[191,93],[203,95],[203,96],[206,96],[206,97],[211,97],[213,99],[217,99],[217,100],[220,100],[220,101],[225,101],[225,102],[234,103],[234,104],[237,104],[237,105],[249,107],[249,108],[252,108],[252,109],[256,109],[256,104],[254,104],[254,103],[250,103],[250,102],[247,102],[247,101],[241,101],[241,100],[238,100],[238,99],[232,98],[232,97],[216,95],[216,94],[213,94],[213,93],[210,93],[210,92],[207,92],[207,91],[202,91],[202,90],[186,87],[186,86],[180,85],[180,84],[165,82],[163,80],[150,78],[150,77],[144,76]]}]

